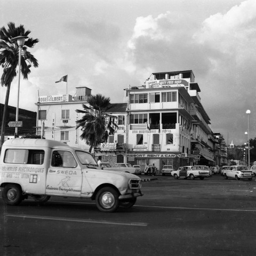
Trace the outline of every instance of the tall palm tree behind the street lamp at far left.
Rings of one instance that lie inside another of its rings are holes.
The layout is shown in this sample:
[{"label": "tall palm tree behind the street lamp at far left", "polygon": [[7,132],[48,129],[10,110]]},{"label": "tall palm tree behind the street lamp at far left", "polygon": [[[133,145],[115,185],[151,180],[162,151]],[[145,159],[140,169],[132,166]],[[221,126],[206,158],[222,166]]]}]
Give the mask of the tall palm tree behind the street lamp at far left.
[{"label": "tall palm tree behind the street lamp at far left", "polygon": [[[13,22],[9,22],[7,27],[7,29],[5,27],[0,28],[0,64],[3,68],[1,85],[7,87],[2,119],[0,146],[2,146],[4,142],[4,129],[6,123],[10,87],[14,77],[17,75],[17,68],[19,66],[19,46],[16,41],[12,41],[12,38],[17,36],[28,36],[31,32],[30,30],[25,31],[23,25],[15,27],[15,23]],[[28,74],[31,72],[31,66],[35,68],[38,67],[37,60],[30,52],[27,51],[27,47],[34,47],[34,45],[38,42],[38,39],[29,37],[27,41],[25,41],[25,45],[22,47],[21,74],[23,75],[24,79],[28,79]]]}]

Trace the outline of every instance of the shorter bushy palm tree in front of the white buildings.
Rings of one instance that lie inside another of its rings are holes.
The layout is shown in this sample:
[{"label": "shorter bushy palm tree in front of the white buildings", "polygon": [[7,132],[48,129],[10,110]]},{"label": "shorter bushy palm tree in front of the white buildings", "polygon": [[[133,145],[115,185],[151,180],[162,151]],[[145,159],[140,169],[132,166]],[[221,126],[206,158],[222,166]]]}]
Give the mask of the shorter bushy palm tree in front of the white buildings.
[{"label": "shorter bushy palm tree in front of the white buildings", "polygon": [[114,129],[106,123],[105,117],[106,110],[110,108],[110,98],[105,98],[101,94],[91,95],[88,97],[87,102],[90,107],[82,104],[84,110],[76,109],[76,113],[83,113],[82,119],[76,121],[76,129],[82,127],[82,135],[80,138],[90,145],[89,152],[95,148],[99,143],[106,142],[108,138],[108,131],[114,132]]}]

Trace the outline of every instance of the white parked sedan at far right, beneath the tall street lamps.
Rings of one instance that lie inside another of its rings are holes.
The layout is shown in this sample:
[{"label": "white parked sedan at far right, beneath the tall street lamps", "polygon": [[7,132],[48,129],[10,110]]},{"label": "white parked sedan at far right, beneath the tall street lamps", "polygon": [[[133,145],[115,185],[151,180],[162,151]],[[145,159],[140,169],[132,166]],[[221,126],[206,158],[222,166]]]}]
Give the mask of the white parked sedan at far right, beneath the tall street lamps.
[{"label": "white parked sedan at far right, beneath the tall street lamps", "polygon": [[252,171],[245,165],[231,165],[228,170],[223,171],[225,179],[235,178],[236,180],[248,179],[252,180]]}]

